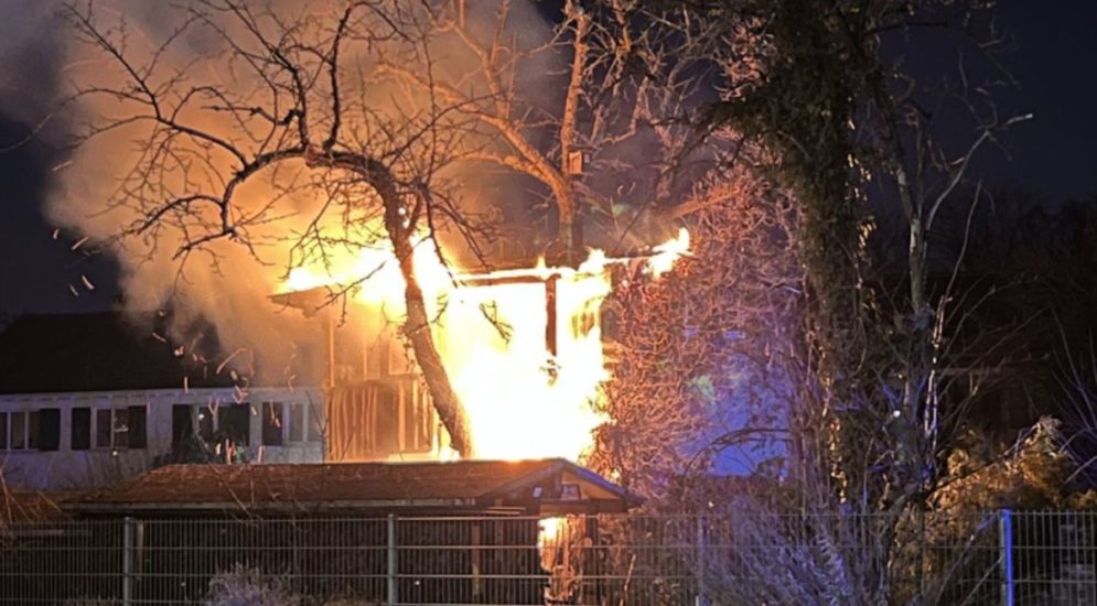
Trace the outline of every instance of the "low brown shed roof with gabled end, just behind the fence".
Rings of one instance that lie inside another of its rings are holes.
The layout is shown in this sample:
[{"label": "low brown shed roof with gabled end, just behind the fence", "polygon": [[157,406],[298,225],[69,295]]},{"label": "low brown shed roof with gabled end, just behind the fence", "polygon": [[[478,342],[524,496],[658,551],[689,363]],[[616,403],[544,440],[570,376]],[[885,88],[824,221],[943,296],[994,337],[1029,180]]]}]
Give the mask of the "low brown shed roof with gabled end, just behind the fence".
[{"label": "low brown shed roof with gabled end, just behind the fence", "polygon": [[635,497],[564,459],[170,465],[66,499],[73,512],[624,511]]}]

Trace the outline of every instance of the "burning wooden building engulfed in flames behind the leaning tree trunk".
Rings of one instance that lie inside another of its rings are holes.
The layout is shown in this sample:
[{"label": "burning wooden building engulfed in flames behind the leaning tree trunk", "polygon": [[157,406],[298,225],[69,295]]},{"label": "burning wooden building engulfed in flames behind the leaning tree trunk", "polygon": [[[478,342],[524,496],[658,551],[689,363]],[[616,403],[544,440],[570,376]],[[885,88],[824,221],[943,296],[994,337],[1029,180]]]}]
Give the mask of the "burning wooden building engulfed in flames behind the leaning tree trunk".
[{"label": "burning wooden building engulfed in flames behind the leaning tree trunk", "polygon": [[[467,414],[477,458],[578,461],[604,421],[609,379],[601,304],[611,269],[643,264],[659,274],[688,247],[688,234],[649,255],[610,259],[593,251],[572,267],[459,272],[421,242],[417,278],[433,317],[431,331]],[[361,285],[347,288],[358,277]],[[329,461],[449,458],[448,434],[402,347],[398,325],[404,281],[387,252],[364,249],[343,268],[300,267],[282,305],[327,325],[325,456]],[[530,431],[533,430],[533,431]]]}]

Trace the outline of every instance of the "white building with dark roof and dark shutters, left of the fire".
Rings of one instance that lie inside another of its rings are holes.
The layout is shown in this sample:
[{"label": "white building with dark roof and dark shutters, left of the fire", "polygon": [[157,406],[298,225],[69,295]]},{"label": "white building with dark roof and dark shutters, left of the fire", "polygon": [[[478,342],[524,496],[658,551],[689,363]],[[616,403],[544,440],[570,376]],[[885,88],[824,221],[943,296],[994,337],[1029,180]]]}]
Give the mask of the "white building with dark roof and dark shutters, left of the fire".
[{"label": "white building with dark roof and dark shutters, left of the fire", "polygon": [[319,389],[240,389],[228,370],[141,335],[114,313],[23,316],[0,333],[8,484],[98,486],[171,462],[323,461]]}]

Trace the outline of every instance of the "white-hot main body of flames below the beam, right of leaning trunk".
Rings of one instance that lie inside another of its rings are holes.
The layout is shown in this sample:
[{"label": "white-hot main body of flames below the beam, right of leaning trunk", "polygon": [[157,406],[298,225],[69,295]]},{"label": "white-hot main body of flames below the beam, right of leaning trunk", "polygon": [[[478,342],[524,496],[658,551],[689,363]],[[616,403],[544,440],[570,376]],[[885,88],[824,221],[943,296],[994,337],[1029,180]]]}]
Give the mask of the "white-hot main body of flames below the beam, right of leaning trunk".
[{"label": "white-hot main body of flames below the beam, right of leaning trunk", "polygon": [[435,327],[477,457],[574,461],[603,422],[592,401],[609,378],[595,320],[609,278],[568,269],[550,278],[561,310],[555,356],[547,349],[551,318],[541,280],[459,285]]}]

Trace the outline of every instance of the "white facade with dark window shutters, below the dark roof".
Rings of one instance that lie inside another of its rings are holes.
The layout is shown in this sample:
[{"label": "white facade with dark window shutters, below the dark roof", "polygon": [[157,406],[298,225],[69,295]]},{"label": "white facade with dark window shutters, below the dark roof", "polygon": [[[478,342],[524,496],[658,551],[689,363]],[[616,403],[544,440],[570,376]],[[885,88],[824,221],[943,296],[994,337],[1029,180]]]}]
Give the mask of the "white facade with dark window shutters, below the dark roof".
[{"label": "white facade with dark window shutters, below the dark roof", "polygon": [[323,459],[315,389],[146,389],[0,396],[6,481],[104,486],[174,462]]}]

